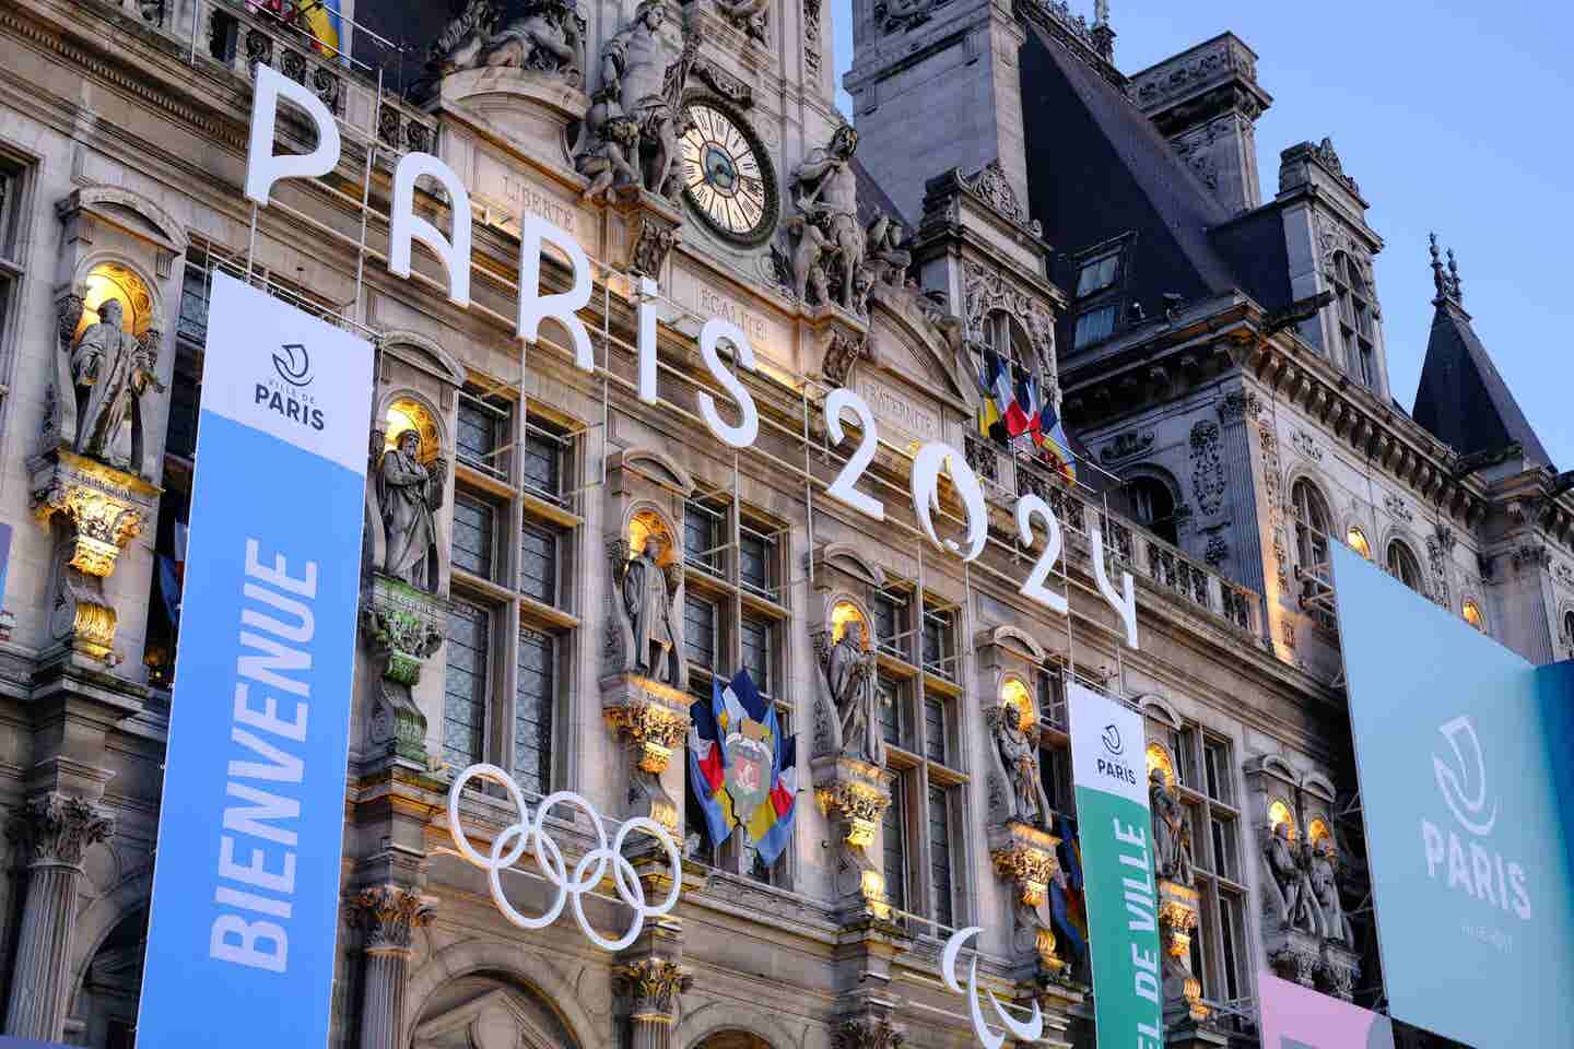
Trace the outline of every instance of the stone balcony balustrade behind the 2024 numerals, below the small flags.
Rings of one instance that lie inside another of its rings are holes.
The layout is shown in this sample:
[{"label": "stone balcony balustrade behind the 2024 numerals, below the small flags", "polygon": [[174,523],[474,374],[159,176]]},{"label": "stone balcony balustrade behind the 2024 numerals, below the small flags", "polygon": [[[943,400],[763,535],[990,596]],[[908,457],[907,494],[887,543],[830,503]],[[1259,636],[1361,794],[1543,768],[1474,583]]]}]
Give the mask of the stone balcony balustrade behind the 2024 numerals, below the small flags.
[{"label": "stone balcony balustrade behind the 2024 numerals, below the small flags", "polygon": [[1146,576],[1157,590],[1250,634],[1254,642],[1261,640],[1262,601],[1251,590],[1192,560],[1140,524],[1107,511],[1053,469],[1025,453],[1011,456],[970,437],[966,455],[990,499],[1009,505],[1018,495],[1031,492],[1050,505],[1062,528],[1078,535],[1088,535],[1088,527],[1099,522],[1111,561],[1124,565],[1135,576]]}]

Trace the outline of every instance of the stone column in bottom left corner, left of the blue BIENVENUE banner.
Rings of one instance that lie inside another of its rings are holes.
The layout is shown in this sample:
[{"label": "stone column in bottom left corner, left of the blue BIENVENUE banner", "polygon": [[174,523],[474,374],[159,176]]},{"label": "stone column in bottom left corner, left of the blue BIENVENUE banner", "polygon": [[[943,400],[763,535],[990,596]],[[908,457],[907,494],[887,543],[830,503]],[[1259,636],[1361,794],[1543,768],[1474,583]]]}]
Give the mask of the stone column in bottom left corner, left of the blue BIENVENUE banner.
[{"label": "stone column in bottom left corner, left of the blue BIENVENUE banner", "polygon": [[22,929],[5,1033],[60,1041],[66,1024],[66,972],[82,857],[115,832],[115,821],[80,797],[50,791],[28,801],[8,835],[27,867]]}]

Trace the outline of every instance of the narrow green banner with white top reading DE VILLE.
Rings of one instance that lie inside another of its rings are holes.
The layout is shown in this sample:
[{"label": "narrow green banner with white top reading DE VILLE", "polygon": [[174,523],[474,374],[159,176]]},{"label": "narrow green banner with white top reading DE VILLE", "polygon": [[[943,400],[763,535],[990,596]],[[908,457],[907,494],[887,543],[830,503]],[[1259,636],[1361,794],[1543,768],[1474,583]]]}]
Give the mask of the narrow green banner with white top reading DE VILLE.
[{"label": "narrow green banner with white top reading DE VILLE", "polygon": [[1158,896],[1149,856],[1143,717],[1077,684],[1067,698],[1097,1041],[1162,1049]]}]

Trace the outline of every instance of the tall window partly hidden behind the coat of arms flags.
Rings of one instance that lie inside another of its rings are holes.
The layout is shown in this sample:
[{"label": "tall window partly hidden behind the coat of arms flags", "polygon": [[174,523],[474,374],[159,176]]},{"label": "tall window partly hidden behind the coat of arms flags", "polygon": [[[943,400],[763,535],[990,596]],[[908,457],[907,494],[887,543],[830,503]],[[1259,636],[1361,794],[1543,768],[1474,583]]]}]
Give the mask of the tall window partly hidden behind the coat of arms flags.
[{"label": "tall window partly hidden behind the coat of arms flags", "polygon": [[[748,670],[776,706],[782,738],[793,734],[792,697],[784,687],[784,528],[730,500],[689,500],[683,508],[683,640],[689,690],[710,697],[713,681]],[[696,823],[693,829],[702,829]],[[773,885],[790,881],[789,852],[767,868],[748,837],[705,841],[702,859],[724,871]]]}]

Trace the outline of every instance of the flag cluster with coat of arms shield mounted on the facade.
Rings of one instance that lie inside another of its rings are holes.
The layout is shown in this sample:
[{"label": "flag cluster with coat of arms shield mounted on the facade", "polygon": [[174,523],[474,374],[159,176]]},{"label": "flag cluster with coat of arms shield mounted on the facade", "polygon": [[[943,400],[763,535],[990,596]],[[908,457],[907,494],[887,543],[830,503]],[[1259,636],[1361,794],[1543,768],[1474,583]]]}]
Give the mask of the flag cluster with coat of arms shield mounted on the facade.
[{"label": "flag cluster with coat of arms shield mounted on the facade", "polygon": [[774,863],[795,812],[796,738],[782,741],[776,709],[748,670],[713,679],[710,701],[697,700],[689,720],[689,785],[705,837],[719,845],[741,823],[765,863]]}]

